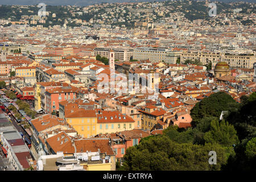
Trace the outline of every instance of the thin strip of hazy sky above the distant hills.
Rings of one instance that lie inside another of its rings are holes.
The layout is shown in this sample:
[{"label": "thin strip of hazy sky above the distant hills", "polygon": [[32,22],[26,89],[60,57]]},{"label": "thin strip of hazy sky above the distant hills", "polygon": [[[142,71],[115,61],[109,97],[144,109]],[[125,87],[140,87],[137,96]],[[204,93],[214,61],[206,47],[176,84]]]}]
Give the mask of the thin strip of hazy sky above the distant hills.
[{"label": "thin strip of hazy sky above the distant hills", "polygon": [[[0,5],[38,5],[40,2],[45,3],[46,5],[77,5],[77,6],[88,6],[95,3],[101,2],[154,2],[155,0],[0,0]],[[159,0],[164,1],[164,0]],[[217,0],[222,2],[236,2],[236,1],[245,1],[245,2],[256,2],[256,0]]]}]

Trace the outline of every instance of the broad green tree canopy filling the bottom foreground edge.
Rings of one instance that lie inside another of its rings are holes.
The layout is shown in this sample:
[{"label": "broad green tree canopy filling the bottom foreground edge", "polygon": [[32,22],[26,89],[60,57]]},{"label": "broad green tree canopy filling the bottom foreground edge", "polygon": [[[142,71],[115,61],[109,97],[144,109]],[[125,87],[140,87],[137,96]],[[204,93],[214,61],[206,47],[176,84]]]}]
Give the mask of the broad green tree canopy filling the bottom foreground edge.
[{"label": "broad green tree canopy filling the bottom foreground edge", "polygon": [[[209,151],[216,151],[218,163],[210,165]],[[176,143],[160,135],[143,140],[138,146],[129,147],[123,156],[124,170],[220,170],[233,156],[232,148],[217,143],[205,146],[191,143]]]}]

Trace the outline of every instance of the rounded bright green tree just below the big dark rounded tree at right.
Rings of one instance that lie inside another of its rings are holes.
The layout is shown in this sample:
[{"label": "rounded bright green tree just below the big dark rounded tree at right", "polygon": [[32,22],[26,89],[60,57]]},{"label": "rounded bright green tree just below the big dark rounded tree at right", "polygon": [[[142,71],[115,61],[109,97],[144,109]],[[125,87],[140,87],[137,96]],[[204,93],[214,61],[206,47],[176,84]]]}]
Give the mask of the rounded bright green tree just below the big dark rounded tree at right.
[{"label": "rounded bright green tree just below the big dark rounded tree at right", "polygon": [[214,119],[210,123],[210,131],[205,133],[204,139],[206,143],[219,143],[222,146],[230,147],[239,142],[236,134],[237,131],[233,125],[225,122],[224,119],[220,123]]}]

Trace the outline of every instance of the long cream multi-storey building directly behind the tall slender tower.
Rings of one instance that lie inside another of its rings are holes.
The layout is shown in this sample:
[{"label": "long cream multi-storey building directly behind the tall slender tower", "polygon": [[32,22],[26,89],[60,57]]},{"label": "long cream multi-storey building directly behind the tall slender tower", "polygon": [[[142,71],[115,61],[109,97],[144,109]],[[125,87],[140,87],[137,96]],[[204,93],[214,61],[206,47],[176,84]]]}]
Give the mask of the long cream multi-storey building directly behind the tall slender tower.
[{"label": "long cream multi-storey building directly behind the tall slender tower", "polygon": [[109,58],[109,51],[113,49],[114,59],[119,61],[129,61],[133,57],[133,49],[129,48],[105,48],[96,47],[94,48],[94,55],[100,55],[101,57]]}]

